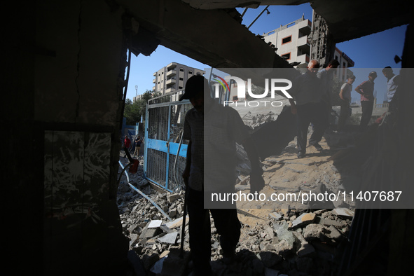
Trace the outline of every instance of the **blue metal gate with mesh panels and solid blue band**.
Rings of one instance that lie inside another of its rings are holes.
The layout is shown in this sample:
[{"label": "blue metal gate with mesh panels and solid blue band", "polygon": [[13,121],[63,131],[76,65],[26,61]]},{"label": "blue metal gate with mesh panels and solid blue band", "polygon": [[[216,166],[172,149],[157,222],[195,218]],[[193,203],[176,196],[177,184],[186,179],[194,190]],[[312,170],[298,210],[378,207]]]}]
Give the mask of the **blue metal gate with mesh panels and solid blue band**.
[{"label": "blue metal gate with mesh panels and solid blue band", "polygon": [[144,174],[146,179],[165,188],[179,191],[184,187],[181,174],[186,166],[188,141],[182,140],[184,118],[191,106],[184,91],[149,99],[146,106]]}]

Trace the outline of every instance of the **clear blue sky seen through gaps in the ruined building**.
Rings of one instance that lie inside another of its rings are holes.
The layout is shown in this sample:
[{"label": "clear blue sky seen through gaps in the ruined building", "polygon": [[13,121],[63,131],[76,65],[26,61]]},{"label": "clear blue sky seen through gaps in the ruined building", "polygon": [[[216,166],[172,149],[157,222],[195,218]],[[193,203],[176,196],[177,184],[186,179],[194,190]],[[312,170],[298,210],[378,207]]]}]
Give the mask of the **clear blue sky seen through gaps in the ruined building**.
[{"label": "clear blue sky seen through gaps in the ruined building", "polygon": [[[248,9],[243,17],[242,24],[249,26],[257,15],[263,11],[263,8],[265,6]],[[242,8],[237,8],[237,10],[240,13],[243,11]],[[267,14],[265,11],[249,28],[252,33],[263,34],[270,32],[272,29],[280,27],[280,25],[287,25],[301,18],[302,15],[305,15],[305,19],[312,20],[312,8],[310,4],[302,4],[299,6],[270,6],[268,11],[270,11],[270,14]],[[383,95],[385,94],[386,79],[382,76],[382,68],[391,66],[397,74],[399,68],[401,68],[401,62],[396,64],[394,62],[394,56],[399,55],[401,57],[402,55],[405,32],[406,25],[336,44],[339,50],[345,52],[355,62],[354,68],[357,69],[355,70],[357,79],[354,82],[354,87],[368,79],[369,71],[377,71],[378,78],[375,80],[375,90],[378,93],[378,102],[382,102]],[[153,73],[171,62],[179,62],[198,69],[209,68],[205,64],[163,46],[158,46],[156,51],[149,57],[144,55],[135,57],[132,55],[127,98],[132,99],[136,94],[140,95],[146,90],[151,90],[154,85],[152,83],[154,78]],[[135,88],[136,86],[137,89]],[[358,97],[357,92],[353,92],[352,97]]]}]

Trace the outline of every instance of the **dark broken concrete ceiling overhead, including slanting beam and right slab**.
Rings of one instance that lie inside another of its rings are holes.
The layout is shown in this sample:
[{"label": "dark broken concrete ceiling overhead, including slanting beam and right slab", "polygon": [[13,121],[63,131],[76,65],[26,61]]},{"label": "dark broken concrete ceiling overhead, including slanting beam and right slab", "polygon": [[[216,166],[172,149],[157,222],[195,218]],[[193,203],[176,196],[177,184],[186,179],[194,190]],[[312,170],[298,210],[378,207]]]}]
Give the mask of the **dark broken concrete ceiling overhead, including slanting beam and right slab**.
[{"label": "dark broken concrete ceiling overhead, including slanting beam and right slab", "polygon": [[[151,55],[158,45],[214,68],[286,68],[289,63],[260,36],[241,24],[235,8],[299,5],[308,0],[113,0],[136,20],[139,31],[132,52]],[[403,1],[314,0],[315,12],[326,20],[333,42],[339,43],[408,24]],[[394,7],[399,7],[396,9]],[[171,61],[166,61],[166,63]]]}]

